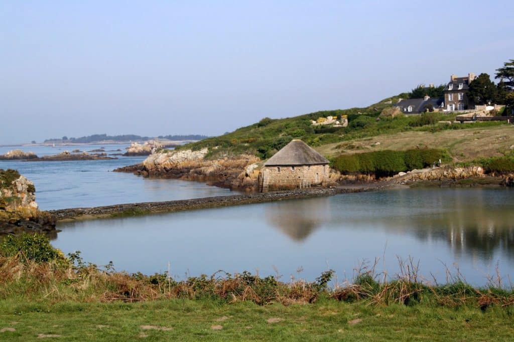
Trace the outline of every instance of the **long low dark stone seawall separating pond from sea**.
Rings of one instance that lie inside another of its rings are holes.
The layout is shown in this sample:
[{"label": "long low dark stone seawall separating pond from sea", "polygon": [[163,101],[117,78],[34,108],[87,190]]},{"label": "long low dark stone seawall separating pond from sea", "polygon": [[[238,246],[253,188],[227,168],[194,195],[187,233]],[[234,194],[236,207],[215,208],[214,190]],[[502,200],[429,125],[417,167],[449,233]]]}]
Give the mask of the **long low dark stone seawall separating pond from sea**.
[{"label": "long low dark stone seawall separating pond from sea", "polygon": [[170,213],[230,205],[253,204],[281,200],[332,196],[342,192],[353,193],[361,191],[364,190],[313,188],[301,191],[296,190],[276,193],[256,193],[247,195],[217,196],[165,202],[127,203],[98,206],[91,208],[69,208],[61,210],[52,210],[50,211],[50,213],[54,217],[56,217],[58,221],[87,220],[108,217],[137,216],[151,213]]}]

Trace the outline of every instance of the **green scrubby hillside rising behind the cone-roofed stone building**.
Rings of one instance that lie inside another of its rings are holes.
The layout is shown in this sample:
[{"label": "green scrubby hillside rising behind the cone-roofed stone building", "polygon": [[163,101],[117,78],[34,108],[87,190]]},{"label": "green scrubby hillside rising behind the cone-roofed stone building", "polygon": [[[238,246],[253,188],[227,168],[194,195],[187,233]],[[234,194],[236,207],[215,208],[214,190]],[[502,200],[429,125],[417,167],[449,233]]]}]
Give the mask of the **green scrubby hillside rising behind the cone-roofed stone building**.
[{"label": "green scrubby hillside rising behind the cone-roofed stone building", "polygon": [[[446,130],[467,130],[478,127],[489,129],[505,125],[502,122],[453,125],[438,123],[438,121],[453,121],[455,115],[452,113],[447,115],[445,113],[430,112],[421,116],[400,115],[395,118],[380,116],[384,108],[392,107],[399,98],[405,97],[407,97],[406,93],[398,94],[364,108],[324,110],[284,119],[264,118],[257,123],[238,128],[225,135],[183,145],[179,149],[191,148],[197,150],[208,147],[209,154],[207,158],[211,159],[238,154],[251,154],[261,159],[267,159],[292,139],[301,139],[308,145],[320,150],[325,156],[334,157],[348,151],[358,150],[359,147],[352,147],[351,142],[353,141],[373,139],[373,137],[378,136],[383,137],[402,132],[411,132],[412,136],[416,136],[419,133],[421,136],[428,137],[430,133]],[[311,120],[327,116],[340,117],[341,115],[348,116],[348,127],[311,125]],[[466,134],[461,135],[466,136]],[[452,145],[454,139],[451,134],[445,137],[449,140],[445,145]],[[458,142],[457,138],[455,142]],[[369,141],[366,141],[365,144],[371,145]],[[423,144],[423,141],[418,139],[418,144]],[[412,147],[411,145],[409,141],[409,147]],[[325,146],[328,147],[325,148]],[[402,148],[401,144],[384,146],[405,149]],[[366,148],[368,147],[366,146]]]}]

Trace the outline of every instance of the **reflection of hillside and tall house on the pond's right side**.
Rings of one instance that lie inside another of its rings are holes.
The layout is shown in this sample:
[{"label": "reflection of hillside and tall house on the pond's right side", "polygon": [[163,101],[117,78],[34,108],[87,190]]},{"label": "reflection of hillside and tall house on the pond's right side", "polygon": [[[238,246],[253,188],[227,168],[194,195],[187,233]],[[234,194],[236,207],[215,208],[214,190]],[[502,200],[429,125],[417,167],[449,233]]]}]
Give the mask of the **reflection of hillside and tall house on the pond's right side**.
[{"label": "reflection of hillside and tall house on the pond's right side", "polygon": [[[418,196],[416,196],[418,195]],[[446,189],[384,192],[366,196],[389,203],[368,215],[346,217],[352,225],[381,226],[430,242],[446,241],[456,256],[514,259],[514,203],[509,189]],[[375,203],[374,203],[375,204]],[[406,212],[407,210],[407,212]]]}]

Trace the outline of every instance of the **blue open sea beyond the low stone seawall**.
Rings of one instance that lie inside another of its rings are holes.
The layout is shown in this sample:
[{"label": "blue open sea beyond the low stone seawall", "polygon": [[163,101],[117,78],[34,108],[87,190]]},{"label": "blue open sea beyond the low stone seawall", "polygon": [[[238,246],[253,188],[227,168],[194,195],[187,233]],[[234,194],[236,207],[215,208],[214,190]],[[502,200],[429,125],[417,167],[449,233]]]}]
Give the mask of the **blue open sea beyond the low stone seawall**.
[{"label": "blue open sea beyond the low stone seawall", "polygon": [[[64,150],[90,151],[105,147],[107,155],[123,153],[127,145],[0,147],[0,154],[11,149],[32,151],[39,157]],[[121,151],[117,151],[121,149]],[[0,168],[14,168],[34,182],[36,202],[42,210],[99,206],[132,202],[170,201],[227,195],[228,189],[198,182],[145,179],[133,174],[111,172],[140,163],[145,157],[121,157],[115,160],[66,162],[0,161]]]}]

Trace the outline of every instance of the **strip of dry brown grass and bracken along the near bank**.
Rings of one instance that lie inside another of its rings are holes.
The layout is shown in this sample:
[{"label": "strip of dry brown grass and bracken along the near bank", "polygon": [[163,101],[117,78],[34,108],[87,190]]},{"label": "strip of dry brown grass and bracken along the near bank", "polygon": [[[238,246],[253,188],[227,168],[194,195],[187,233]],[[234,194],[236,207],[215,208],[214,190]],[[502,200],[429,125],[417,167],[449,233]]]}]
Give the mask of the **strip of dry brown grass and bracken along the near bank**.
[{"label": "strip of dry brown grass and bracken along the near bank", "polygon": [[[366,301],[369,305],[401,303],[433,303],[445,307],[471,305],[482,310],[490,306],[514,305],[514,291],[495,286],[473,288],[449,278],[445,285],[431,285],[418,275],[418,265],[412,258],[399,260],[400,272],[388,281],[385,274],[371,268],[356,271],[354,283],[327,289],[320,281],[291,280],[288,283],[271,277],[260,278],[247,272],[234,276],[190,277],[174,281],[167,275],[143,276],[124,272],[99,270],[95,265],[74,267],[62,263],[22,262],[19,256],[0,258],[0,298],[21,296],[50,301],[137,302],[167,298],[201,299],[233,303],[251,301],[259,305],[278,302],[283,305],[311,303],[320,297],[339,301]],[[321,277],[320,277],[321,278]],[[377,281],[376,279],[382,279]]]}]

